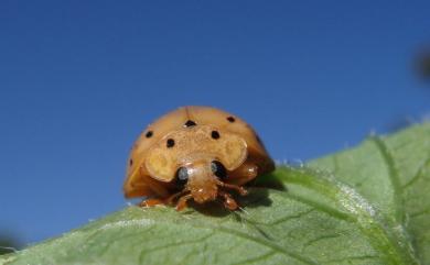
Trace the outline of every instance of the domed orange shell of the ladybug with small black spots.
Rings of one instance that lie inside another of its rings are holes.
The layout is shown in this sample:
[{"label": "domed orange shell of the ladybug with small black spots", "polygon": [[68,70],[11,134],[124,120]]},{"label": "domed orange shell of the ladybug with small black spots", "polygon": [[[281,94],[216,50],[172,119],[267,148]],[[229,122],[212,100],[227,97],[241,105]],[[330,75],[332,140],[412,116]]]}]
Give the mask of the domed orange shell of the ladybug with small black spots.
[{"label": "domed orange shell of the ladybug with small black spots", "polygon": [[[184,124],[187,121],[194,122],[196,126],[186,128]],[[215,144],[205,139],[203,135],[209,135],[209,130],[219,131],[223,142]],[[163,144],[171,134],[175,139],[190,139],[192,135],[194,142],[198,139],[201,141],[185,146],[176,143],[178,150],[170,154]],[[229,170],[247,161],[258,167],[258,175],[275,168],[264,144],[245,121],[215,108],[183,107],[150,124],[136,141],[123,185],[126,197],[168,196],[178,163],[192,156],[193,152],[213,152]]]}]

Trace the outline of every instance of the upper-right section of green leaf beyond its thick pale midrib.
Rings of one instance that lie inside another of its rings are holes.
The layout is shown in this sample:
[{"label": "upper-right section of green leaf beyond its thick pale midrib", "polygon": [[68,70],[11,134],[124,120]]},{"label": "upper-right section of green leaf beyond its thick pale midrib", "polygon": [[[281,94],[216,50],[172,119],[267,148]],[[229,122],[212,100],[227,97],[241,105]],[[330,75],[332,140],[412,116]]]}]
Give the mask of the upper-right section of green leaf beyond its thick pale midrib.
[{"label": "upper-right section of green leaf beyond its thick pale midrib", "polygon": [[[430,124],[372,136],[356,148],[311,163],[366,197],[430,264]],[[396,228],[395,225],[402,227]]]}]

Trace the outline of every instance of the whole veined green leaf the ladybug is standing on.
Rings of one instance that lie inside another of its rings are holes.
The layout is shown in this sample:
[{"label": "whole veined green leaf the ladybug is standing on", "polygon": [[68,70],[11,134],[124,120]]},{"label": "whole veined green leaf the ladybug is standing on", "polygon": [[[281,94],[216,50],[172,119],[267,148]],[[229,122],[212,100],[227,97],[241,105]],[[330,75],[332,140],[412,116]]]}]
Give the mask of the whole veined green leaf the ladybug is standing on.
[{"label": "whole veined green leaf the ladybug is standing on", "polygon": [[273,183],[236,212],[129,207],[0,264],[430,264],[430,124],[257,185]]}]

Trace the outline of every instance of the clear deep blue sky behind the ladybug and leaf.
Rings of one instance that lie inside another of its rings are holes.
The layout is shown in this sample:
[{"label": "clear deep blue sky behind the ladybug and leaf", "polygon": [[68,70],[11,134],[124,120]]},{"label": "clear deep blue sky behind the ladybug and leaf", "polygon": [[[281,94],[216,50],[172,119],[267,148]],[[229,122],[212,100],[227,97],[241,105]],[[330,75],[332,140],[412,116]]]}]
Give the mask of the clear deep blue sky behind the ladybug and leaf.
[{"label": "clear deep blue sky behind the ladybug and leaf", "polygon": [[[157,2],[157,3],[155,3]],[[24,243],[126,206],[129,147],[185,104],[305,161],[429,111],[430,1],[0,2],[0,230]]]}]

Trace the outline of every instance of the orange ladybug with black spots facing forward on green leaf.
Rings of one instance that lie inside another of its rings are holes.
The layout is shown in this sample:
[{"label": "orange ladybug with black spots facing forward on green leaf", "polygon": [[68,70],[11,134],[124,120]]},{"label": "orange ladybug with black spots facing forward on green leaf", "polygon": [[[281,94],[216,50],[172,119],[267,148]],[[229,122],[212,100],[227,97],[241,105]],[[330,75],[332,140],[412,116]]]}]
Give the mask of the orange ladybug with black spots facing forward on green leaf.
[{"label": "orange ladybug with black spots facing forward on green leaf", "polygon": [[146,197],[140,206],[173,205],[176,210],[224,201],[238,208],[230,190],[275,169],[262,142],[245,121],[209,107],[183,107],[150,124],[136,141],[123,184],[126,198]]}]

